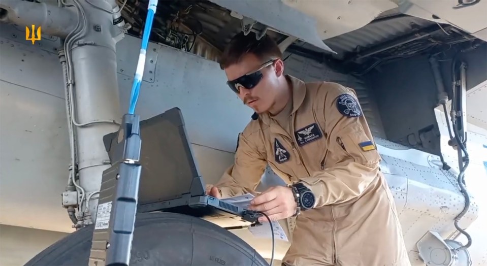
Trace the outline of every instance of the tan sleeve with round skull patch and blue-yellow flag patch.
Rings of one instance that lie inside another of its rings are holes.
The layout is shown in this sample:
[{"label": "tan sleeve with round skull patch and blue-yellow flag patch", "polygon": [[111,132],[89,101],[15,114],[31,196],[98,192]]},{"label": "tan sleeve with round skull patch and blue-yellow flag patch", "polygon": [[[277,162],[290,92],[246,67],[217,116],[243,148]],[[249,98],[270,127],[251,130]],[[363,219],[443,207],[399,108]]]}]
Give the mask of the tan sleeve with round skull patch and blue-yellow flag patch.
[{"label": "tan sleeve with round skull patch and blue-yellow flag patch", "polygon": [[300,179],[315,194],[315,208],[360,196],[378,178],[380,162],[353,90],[332,85],[325,96],[323,111],[328,146],[326,168]]}]

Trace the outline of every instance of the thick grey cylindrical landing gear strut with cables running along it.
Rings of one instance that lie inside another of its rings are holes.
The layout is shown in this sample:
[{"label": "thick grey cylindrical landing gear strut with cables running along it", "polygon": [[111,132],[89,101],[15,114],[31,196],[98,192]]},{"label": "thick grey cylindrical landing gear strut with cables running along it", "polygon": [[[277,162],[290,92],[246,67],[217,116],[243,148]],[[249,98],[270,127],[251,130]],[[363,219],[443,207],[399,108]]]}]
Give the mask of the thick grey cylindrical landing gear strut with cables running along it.
[{"label": "thick grey cylindrical landing gear strut with cables running along it", "polygon": [[[72,98],[73,130],[76,139],[77,164],[79,183],[84,189],[81,199],[82,211],[89,206],[91,221],[95,221],[98,208],[98,195],[102,173],[110,167],[108,155],[100,136],[116,131],[120,123],[121,113],[118,98],[117,53],[115,45],[121,31],[112,23],[112,14],[80,2],[86,13],[84,34],[68,46],[64,52],[71,56],[73,68],[74,90],[70,90]],[[71,38],[67,40],[69,44]],[[85,44],[85,45],[81,45]],[[68,57],[67,57],[68,58]],[[68,61],[68,65],[69,65]],[[69,81],[68,81],[69,82]],[[93,123],[93,121],[113,121],[109,123]],[[87,124],[81,126],[79,124]],[[86,201],[91,198],[89,203]],[[87,217],[86,219],[88,219]],[[88,219],[89,220],[89,219]]]}]

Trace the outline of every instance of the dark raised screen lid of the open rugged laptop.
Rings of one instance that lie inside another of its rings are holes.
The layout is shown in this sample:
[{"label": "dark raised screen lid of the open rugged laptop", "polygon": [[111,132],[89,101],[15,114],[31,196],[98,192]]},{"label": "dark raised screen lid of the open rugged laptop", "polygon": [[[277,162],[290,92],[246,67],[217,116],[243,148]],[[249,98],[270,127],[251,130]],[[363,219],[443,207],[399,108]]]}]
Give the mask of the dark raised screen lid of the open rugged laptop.
[{"label": "dark raised screen lid of the open rugged laptop", "polygon": [[[118,150],[113,149],[113,146],[117,145],[118,133],[111,135],[105,140],[112,143],[109,154],[114,155],[114,150]],[[193,158],[179,108],[172,108],[141,121],[140,135],[142,171],[139,204],[172,200],[189,193],[193,180],[200,182],[198,166]],[[113,161],[112,158],[113,156],[110,156]],[[195,185],[203,194],[203,184]]]}]

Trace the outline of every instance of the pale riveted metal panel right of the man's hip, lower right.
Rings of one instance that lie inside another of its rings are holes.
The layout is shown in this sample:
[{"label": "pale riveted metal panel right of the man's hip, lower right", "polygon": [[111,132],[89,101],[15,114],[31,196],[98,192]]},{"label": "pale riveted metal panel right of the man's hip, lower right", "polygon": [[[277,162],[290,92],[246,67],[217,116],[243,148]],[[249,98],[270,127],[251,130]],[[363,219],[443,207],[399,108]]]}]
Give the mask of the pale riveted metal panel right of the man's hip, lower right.
[{"label": "pale riveted metal panel right of the man's hip, lower right", "polygon": [[[440,160],[438,156],[398,144],[387,145],[388,142],[376,139],[379,153],[385,161],[381,163],[381,170],[395,197],[408,250],[417,251],[416,242],[428,230],[439,232],[445,239],[456,235],[453,220],[465,204],[456,177],[443,170],[441,164],[433,163]],[[406,204],[401,210],[404,199],[398,191],[405,190]],[[460,221],[460,226],[471,225],[477,215],[478,206],[475,198],[471,197],[469,211]]]}]

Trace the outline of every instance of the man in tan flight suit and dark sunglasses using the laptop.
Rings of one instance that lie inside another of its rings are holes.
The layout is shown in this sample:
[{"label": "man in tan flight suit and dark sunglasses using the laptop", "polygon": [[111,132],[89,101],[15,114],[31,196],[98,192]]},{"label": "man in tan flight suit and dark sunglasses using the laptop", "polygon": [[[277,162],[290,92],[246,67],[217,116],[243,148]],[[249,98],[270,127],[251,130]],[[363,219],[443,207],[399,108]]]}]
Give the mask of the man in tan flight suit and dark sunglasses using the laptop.
[{"label": "man in tan flight suit and dark sunglasses using the laptop", "polygon": [[394,198],[354,91],[284,75],[281,58],[272,39],[257,41],[252,33],[238,34],[223,52],[228,85],[255,114],[239,135],[234,164],[207,193],[255,191],[269,164],[289,185],[262,192],[250,209],[272,220],[297,215],[283,265],[409,266]]}]

